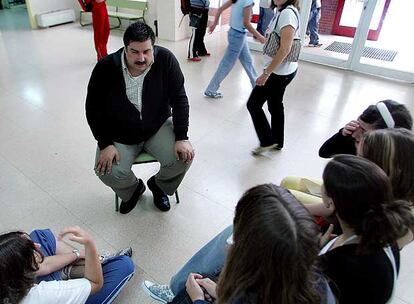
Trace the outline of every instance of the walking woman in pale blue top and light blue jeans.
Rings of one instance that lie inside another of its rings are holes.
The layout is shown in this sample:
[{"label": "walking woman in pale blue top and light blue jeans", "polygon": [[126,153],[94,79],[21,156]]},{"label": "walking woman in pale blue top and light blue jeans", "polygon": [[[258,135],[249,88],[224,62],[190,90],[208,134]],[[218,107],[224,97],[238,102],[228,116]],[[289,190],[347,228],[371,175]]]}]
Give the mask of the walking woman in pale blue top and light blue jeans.
[{"label": "walking woman in pale blue top and light blue jeans", "polygon": [[253,0],[227,0],[218,10],[214,23],[210,26],[210,33],[214,31],[221,13],[231,7],[230,30],[228,32],[229,45],[219,67],[211,79],[204,96],[210,98],[221,98],[223,95],[218,92],[220,83],[226,78],[233,68],[236,60],[239,59],[244,70],[249,76],[252,87],[256,85],[257,73],[253,66],[252,55],[246,42],[246,30],[257,37],[261,42],[265,38],[252,26],[250,18],[252,14]]}]

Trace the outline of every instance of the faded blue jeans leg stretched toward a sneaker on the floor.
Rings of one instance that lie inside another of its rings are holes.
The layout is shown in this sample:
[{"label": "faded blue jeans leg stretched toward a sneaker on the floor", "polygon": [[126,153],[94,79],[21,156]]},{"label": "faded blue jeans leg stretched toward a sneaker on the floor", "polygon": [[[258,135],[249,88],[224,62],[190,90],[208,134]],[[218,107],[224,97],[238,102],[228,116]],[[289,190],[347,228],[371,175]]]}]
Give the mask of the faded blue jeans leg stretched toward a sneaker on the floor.
[{"label": "faded blue jeans leg stretched toward a sneaker on the floor", "polygon": [[233,233],[233,225],[220,232],[214,239],[201,248],[180,271],[171,278],[170,288],[176,295],[185,288],[191,272],[215,276],[223,269],[227,257],[227,239]]}]

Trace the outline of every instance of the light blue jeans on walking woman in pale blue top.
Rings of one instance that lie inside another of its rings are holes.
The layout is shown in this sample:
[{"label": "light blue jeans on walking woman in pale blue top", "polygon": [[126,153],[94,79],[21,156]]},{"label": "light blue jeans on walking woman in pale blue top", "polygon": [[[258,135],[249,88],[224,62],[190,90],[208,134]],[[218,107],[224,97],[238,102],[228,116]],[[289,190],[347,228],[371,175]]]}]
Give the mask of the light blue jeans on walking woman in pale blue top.
[{"label": "light blue jeans on walking woman in pale blue top", "polygon": [[254,69],[252,55],[250,54],[247,45],[246,33],[230,28],[228,32],[228,41],[229,45],[227,46],[224,57],[221,59],[218,69],[206,89],[206,93],[217,92],[220,83],[230,73],[231,69],[236,64],[237,59],[240,60],[240,63],[249,76],[252,87],[256,85],[257,73]]}]

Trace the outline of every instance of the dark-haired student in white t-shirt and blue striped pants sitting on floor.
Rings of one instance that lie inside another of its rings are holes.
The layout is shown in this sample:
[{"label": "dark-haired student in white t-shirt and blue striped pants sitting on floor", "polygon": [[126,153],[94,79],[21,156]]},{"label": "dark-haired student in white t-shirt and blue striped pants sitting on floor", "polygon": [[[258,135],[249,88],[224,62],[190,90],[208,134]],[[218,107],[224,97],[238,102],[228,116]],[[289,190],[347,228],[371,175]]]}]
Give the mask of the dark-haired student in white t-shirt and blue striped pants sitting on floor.
[{"label": "dark-haired student in white t-shirt and blue striped pants sitting on floor", "polygon": [[[64,248],[66,235],[84,249]],[[61,269],[80,259],[82,277],[62,280]],[[94,241],[79,227],[64,229],[58,239],[50,230],[0,235],[0,302],[112,303],[133,274],[134,264],[126,255],[107,258],[101,265]]]}]

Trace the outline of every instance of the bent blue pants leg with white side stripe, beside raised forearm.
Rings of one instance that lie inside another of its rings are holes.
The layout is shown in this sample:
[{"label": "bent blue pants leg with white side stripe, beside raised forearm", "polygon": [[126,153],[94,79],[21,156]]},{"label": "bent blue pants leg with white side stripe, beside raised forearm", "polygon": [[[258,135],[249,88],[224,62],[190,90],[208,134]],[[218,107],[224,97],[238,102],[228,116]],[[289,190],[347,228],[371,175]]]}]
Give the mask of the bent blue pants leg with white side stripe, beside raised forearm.
[{"label": "bent blue pants leg with white side stripe, beside raised forearm", "polygon": [[127,256],[118,256],[102,265],[104,285],[100,291],[89,296],[87,304],[112,303],[126,283],[134,275],[134,263]]}]

